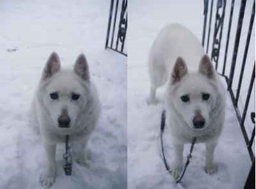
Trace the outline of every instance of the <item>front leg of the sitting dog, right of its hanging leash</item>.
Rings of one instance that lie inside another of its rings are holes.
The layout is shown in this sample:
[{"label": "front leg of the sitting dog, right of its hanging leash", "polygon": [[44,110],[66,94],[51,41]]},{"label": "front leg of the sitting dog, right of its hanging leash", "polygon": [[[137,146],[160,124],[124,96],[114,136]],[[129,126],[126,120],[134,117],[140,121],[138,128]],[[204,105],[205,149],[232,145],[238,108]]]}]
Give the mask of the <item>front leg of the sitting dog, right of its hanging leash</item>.
[{"label": "front leg of the sitting dog, right of its hanging leash", "polygon": [[87,138],[84,140],[81,140],[78,144],[77,144],[78,148],[77,148],[77,157],[76,157],[76,161],[78,164],[89,168],[89,164],[86,161],[86,147],[87,147]]}]

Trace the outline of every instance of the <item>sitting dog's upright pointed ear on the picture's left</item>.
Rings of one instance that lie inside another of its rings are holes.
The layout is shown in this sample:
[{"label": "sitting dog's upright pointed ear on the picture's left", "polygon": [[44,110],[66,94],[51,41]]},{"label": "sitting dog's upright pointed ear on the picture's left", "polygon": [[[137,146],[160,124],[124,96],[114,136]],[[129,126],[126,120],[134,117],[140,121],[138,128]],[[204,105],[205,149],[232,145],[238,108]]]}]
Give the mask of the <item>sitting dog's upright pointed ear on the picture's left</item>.
[{"label": "sitting dog's upright pointed ear on the picture's left", "polygon": [[48,58],[44,71],[42,72],[42,79],[47,79],[53,76],[57,71],[60,70],[60,58],[57,53],[52,52]]}]

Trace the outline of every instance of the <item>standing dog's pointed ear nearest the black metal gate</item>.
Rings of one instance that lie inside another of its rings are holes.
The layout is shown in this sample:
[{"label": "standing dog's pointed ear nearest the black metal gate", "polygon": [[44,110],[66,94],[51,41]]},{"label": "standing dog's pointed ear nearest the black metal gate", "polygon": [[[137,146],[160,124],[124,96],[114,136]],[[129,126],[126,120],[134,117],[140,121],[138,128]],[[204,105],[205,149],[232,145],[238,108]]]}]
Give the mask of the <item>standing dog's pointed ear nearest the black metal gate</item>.
[{"label": "standing dog's pointed ear nearest the black metal gate", "polygon": [[206,54],[202,57],[201,62],[199,64],[199,72],[209,79],[214,79],[215,70],[210,58]]}]

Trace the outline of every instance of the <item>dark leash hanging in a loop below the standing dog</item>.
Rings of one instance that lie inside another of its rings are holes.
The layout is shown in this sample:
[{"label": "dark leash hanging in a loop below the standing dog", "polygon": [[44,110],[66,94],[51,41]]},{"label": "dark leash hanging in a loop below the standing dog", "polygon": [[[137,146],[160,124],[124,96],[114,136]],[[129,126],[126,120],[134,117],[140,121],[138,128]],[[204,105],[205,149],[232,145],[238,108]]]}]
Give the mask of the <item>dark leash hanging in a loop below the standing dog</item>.
[{"label": "dark leash hanging in a loop below the standing dog", "polygon": [[[165,153],[163,151],[163,131],[164,131],[164,129],[165,129],[165,110],[163,110],[163,112],[161,114],[161,135],[160,135],[160,139],[161,139],[161,151],[162,151],[162,154],[163,154],[163,163],[165,164],[165,168],[167,169],[167,171],[170,173],[170,167],[167,164],[167,161],[166,161],[166,158],[165,158]],[[196,137],[193,138],[193,140],[192,140],[192,143],[191,143],[191,146],[190,146],[190,152],[187,156],[187,161],[185,163],[185,166],[183,168],[181,176],[179,176],[179,178],[176,180],[176,183],[181,182],[181,179],[183,178],[183,176],[184,176],[184,174],[187,170],[188,164],[190,163],[190,158],[192,158],[192,152],[194,150],[195,143],[196,143]]]}]

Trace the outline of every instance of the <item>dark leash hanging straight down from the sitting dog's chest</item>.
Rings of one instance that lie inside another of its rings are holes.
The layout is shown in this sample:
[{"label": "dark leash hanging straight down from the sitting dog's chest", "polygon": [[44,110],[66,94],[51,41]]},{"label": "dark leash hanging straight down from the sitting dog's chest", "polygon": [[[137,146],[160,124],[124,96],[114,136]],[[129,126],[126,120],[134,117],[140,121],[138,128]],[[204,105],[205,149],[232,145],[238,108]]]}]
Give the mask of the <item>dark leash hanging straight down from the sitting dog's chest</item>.
[{"label": "dark leash hanging straight down from the sitting dog's chest", "polygon": [[71,176],[72,173],[72,155],[71,155],[71,149],[69,146],[69,135],[66,135],[66,152],[63,154],[64,158],[64,171],[66,176]]}]

